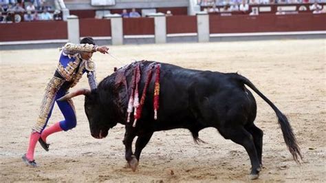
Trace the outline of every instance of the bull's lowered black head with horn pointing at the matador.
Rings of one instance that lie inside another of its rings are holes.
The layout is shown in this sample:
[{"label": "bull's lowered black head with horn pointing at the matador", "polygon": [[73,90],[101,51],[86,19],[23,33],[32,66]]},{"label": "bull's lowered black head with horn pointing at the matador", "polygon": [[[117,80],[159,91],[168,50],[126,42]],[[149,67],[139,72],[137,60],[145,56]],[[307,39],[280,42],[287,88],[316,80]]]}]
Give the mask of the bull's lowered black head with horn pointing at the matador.
[{"label": "bull's lowered black head with horn pointing at the matador", "polygon": [[100,103],[98,92],[96,89],[91,92],[89,89],[79,89],[76,92],[72,92],[63,96],[58,100],[67,100],[68,98],[72,98],[78,95],[85,95],[85,113],[87,119],[89,121],[89,129],[91,130],[91,136],[94,138],[105,138],[109,132],[109,129],[115,124],[109,123],[109,114],[102,107],[102,103]]}]

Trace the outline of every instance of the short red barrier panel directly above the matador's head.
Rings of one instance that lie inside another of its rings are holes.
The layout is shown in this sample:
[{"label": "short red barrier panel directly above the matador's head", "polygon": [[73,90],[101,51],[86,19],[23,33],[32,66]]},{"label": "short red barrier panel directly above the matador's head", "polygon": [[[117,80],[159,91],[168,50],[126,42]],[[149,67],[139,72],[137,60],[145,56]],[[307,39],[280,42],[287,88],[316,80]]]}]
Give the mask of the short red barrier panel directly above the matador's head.
[{"label": "short red barrier panel directly above the matador's head", "polygon": [[80,36],[111,36],[110,19],[79,19]]}]

